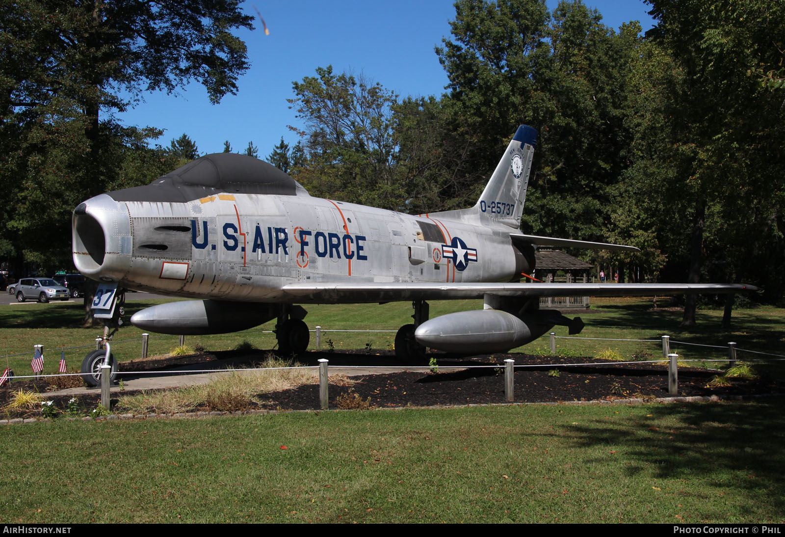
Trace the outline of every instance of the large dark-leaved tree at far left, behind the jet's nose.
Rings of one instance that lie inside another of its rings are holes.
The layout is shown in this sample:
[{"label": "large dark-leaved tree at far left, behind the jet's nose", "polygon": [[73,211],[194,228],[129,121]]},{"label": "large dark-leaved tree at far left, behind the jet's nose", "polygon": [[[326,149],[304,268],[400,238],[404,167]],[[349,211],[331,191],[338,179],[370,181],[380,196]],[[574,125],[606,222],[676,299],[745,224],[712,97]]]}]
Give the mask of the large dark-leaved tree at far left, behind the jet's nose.
[{"label": "large dark-leaved tree at far left, behind the jet's nose", "polygon": [[0,5],[0,21],[0,225],[17,265],[65,262],[70,211],[128,181],[128,152],[146,152],[159,134],[113,121],[133,104],[120,90],[135,100],[196,80],[217,102],[249,65],[232,31],[252,18],[232,0],[20,0]]}]

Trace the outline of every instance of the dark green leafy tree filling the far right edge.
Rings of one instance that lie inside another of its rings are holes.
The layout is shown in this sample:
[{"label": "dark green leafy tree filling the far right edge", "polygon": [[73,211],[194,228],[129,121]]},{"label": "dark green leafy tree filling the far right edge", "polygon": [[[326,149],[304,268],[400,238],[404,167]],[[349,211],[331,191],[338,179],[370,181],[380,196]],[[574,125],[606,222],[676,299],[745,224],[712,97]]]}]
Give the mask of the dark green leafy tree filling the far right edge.
[{"label": "dark green leafy tree filling the far right edge", "polygon": [[[782,278],[773,274],[785,261],[785,183],[777,164],[783,108],[754,73],[782,60],[783,2],[649,3],[658,24],[648,36],[675,73],[660,88],[670,105],[660,112],[667,129],[656,158],[674,170],[659,188],[687,200],[685,228],[674,232],[688,244],[688,281],[752,276],[779,298]],[[683,324],[694,323],[688,299]]]}]

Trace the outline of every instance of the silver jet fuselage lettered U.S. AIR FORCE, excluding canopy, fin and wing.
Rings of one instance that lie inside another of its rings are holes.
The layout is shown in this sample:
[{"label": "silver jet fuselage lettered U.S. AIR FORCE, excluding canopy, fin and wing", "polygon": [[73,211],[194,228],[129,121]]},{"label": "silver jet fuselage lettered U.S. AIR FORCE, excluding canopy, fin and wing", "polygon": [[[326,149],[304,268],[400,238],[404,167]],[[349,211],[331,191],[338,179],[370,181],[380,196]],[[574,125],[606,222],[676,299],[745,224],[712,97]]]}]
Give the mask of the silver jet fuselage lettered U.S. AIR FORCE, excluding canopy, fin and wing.
[{"label": "silver jet fuselage lettered U.S. AIR FORCE, excluding canopy, fin and wing", "polygon": [[75,215],[74,258],[86,276],[121,287],[286,303],[290,283],[509,282],[524,269],[509,233],[427,214],[305,192],[219,192],[184,203],[113,194]]}]

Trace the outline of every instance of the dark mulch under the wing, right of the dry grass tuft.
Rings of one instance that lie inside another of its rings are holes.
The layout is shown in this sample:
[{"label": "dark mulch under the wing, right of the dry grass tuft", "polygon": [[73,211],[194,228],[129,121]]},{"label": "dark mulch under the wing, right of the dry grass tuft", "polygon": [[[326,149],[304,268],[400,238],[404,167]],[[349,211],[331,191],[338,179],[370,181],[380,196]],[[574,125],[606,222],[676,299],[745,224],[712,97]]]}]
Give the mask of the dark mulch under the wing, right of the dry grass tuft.
[{"label": "dark mulch under the wing, right of the dry grass tuft", "polygon": [[[514,392],[516,402],[547,403],[573,400],[654,399],[668,396],[667,368],[655,364],[596,365],[593,358],[553,356],[493,355],[476,357],[470,365],[495,363],[497,367],[477,367],[462,371],[445,370],[371,374],[352,377],[351,386],[330,386],[330,407],[338,407],[337,398],[353,394],[374,407],[414,407],[430,405],[491,404],[506,402],[504,371],[501,363],[512,358],[517,365]],[[440,364],[450,360],[440,360]],[[583,363],[579,366],[555,367],[554,363]],[[549,371],[558,371],[558,376]],[[717,371],[680,367],[680,396],[747,396],[783,393],[783,382],[774,380],[738,380],[724,388],[707,388]],[[265,396],[263,407],[269,409],[313,409],[319,407],[319,386],[301,385]]]}]

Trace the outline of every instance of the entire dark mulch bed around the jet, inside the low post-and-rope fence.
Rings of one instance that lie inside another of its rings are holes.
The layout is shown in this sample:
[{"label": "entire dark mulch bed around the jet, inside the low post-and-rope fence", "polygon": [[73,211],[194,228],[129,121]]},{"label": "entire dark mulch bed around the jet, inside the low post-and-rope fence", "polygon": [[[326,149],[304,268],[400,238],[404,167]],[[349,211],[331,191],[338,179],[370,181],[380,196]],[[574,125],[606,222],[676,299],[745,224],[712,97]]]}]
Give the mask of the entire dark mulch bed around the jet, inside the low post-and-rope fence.
[{"label": "entire dark mulch bed around the jet, inside the low post-and-rope fence", "polygon": [[[202,353],[193,356],[179,356],[155,360],[134,360],[123,363],[123,371],[165,370],[173,366],[215,361],[221,363],[232,360],[236,367],[242,363],[253,364],[264,360],[264,354],[241,356],[236,351],[226,353]],[[524,354],[495,354],[475,356],[471,360],[458,360],[457,356],[447,354],[433,355],[440,369],[433,373],[428,370],[405,371],[389,374],[368,374],[352,377],[351,385],[341,382],[330,385],[330,407],[340,407],[338,398],[347,395],[370,404],[371,407],[406,407],[431,405],[492,404],[505,402],[503,360],[511,358],[517,365],[530,367],[515,372],[516,402],[558,402],[572,400],[612,400],[612,399],[653,399],[668,396],[667,368],[658,364],[621,364],[598,365],[593,358],[565,358],[559,356],[529,356]],[[305,353],[298,361],[316,365],[319,358],[330,360],[330,365],[378,365],[393,366],[394,356],[389,352],[367,353],[366,351],[344,351],[336,353]],[[554,364],[572,364],[557,367]],[[455,371],[449,366],[493,366],[475,367]],[[551,371],[551,373],[549,373]],[[554,374],[553,371],[558,371]],[[679,368],[680,396],[749,396],[754,394],[783,393],[782,381],[763,379],[758,381],[736,380],[728,387],[707,387],[707,382],[717,371],[694,367]],[[0,388],[0,403],[5,404],[11,389],[35,389],[45,391],[46,382],[17,382],[10,388]],[[356,394],[356,396],[354,395]],[[65,407],[71,396],[55,398],[57,407]],[[99,393],[80,396],[85,406],[95,406],[100,399]],[[269,410],[309,410],[319,408],[319,385],[301,385],[296,389],[260,396],[262,404],[255,408]],[[200,410],[215,410],[202,408]],[[8,417],[34,417],[38,411],[18,412]],[[5,416],[4,416],[5,417]]]}]

